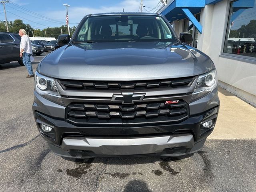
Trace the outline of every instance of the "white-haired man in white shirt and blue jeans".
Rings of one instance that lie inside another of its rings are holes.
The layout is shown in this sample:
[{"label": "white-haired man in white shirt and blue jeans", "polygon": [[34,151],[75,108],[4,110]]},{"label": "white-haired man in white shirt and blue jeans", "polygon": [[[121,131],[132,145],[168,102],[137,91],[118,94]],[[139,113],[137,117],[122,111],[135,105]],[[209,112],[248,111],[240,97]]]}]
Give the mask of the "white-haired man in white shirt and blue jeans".
[{"label": "white-haired man in white shirt and blue jeans", "polygon": [[30,61],[30,56],[32,55],[32,45],[30,38],[26,35],[26,31],[24,29],[20,29],[19,35],[21,36],[20,57],[22,57],[23,54],[22,61],[28,70],[27,78],[34,77],[34,72]]}]

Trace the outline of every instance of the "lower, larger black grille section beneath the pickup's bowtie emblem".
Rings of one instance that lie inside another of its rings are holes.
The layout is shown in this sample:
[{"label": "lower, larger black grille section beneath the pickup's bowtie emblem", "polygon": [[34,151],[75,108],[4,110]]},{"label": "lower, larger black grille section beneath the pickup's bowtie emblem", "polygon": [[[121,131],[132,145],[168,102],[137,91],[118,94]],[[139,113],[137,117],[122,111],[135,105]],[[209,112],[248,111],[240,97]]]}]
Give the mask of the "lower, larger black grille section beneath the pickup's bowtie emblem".
[{"label": "lower, larger black grille section beneath the pickup's bowtie emblem", "polygon": [[[137,104],[92,104],[72,103],[66,108],[66,117],[73,123],[80,122],[116,122],[122,124],[130,122],[173,120],[179,121],[188,116],[188,104],[180,101],[177,104],[164,104],[164,102],[139,102]],[[128,121],[126,121],[128,120]],[[134,121],[135,120],[135,121]]]}]

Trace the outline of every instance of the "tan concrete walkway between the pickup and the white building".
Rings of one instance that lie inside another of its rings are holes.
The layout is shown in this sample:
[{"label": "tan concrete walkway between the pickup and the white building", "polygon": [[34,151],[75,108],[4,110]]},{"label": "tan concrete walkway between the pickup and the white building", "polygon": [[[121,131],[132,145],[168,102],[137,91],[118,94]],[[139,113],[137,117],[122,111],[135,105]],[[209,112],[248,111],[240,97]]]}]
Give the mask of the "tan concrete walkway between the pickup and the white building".
[{"label": "tan concrete walkway between the pickup and the white building", "polygon": [[209,139],[256,139],[256,108],[218,87],[220,111]]}]

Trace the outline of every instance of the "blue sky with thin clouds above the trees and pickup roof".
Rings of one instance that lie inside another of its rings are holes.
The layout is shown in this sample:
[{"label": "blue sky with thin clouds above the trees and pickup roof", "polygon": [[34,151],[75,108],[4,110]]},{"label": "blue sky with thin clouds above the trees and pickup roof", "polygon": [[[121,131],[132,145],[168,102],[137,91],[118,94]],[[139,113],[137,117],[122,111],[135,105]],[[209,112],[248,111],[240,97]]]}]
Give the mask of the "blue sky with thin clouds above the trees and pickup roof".
[{"label": "blue sky with thin clouds above the trees and pickup roof", "polygon": [[[82,18],[91,13],[138,12],[140,0],[10,0],[6,3],[8,21],[21,19],[34,29],[59,27],[66,23],[66,6],[70,27],[76,26]],[[160,0],[143,0],[143,12],[156,12],[162,3]],[[5,20],[3,5],[0,4],[0,21]]]}]

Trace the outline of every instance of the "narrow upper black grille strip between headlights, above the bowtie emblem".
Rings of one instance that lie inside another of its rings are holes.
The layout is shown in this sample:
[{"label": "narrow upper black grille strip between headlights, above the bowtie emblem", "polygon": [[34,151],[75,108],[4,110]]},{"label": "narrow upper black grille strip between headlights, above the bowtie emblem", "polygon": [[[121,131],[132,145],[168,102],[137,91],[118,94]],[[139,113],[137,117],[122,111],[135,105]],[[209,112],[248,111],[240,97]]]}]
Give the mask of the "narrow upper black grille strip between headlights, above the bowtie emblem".
[{"label": "narrow upper black grille strip between headlights, above the bowtie emblem", "polygon": [[100,81],[78,81],[58,80],[64,90],[83,89],[149,89],[149,88],[177,88],[188,87],[194,78],[176,78],[164,80],[130,81],[130,82],[100,82]]}]

